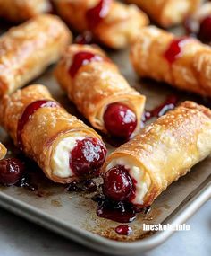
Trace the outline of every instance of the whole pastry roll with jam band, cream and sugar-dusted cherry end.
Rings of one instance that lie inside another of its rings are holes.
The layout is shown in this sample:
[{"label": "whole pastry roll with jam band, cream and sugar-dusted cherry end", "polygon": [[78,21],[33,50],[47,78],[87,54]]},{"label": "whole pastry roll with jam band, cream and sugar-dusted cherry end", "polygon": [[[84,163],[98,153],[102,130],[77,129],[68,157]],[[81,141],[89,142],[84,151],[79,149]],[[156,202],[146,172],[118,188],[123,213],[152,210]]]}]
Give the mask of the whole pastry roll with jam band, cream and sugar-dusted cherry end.
[{"label": "whole pastry roll with jam band, cream and sugar-dusted cherry end", "polygon": [[97,176],[106,149],[92,128],[72,116],[43,85],[4,95],[1,122],[24,154],[55,182]]}]

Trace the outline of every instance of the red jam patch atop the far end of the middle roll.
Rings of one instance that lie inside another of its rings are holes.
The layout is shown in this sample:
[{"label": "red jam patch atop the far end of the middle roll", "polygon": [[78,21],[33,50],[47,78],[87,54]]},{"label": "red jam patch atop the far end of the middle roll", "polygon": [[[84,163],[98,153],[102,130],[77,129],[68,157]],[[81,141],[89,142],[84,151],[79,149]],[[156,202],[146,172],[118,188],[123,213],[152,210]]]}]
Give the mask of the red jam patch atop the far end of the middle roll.
[{"label": "red jam patch atop the far end of the middle roll", "polygon": [[69,74],[74,78],[77,74],[80,66],[89,64],[90,62],[101,62],[104,61],[105,57],[93,54],[89,51],[80,51],[76,53],[72,59],[72,66],[69,68]]}]

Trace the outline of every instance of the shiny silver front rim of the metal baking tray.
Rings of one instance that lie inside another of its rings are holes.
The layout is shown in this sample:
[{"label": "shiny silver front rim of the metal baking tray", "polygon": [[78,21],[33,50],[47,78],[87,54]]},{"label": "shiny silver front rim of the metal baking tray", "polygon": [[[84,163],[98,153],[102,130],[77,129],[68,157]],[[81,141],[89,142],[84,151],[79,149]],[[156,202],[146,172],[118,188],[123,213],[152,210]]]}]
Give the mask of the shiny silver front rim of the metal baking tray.
[{"label": "shiny silver front rim of the metal baking tray", "polygon": [[[211,174],[205,181],[201,182],[195,190],[190,192],[185,199],[183,199],[181,204],[173,210],[173,213],[170,216],[165,218],[162,224],[170,223],[179,225],[184,223],[184,221],[192,216],[198,208],[210,198]],[[41,225],[48,230],[61,234],[68,239],[72,239],[76,243],[82,243],[98,252],[106,252],[115,255],[126,255],[135,252],[148,251],[155,248],[157,245],[164,243],[174,232],[165,230],[156,232],[156,234],[143,240],[121,242],[105,238],[99,234],[93,234],[76,225],[66,225],[65,221],[59,220],[55,216],[50,216],[21,200],[13,199],[13,197],[6,195],[3,191],[0,191],[0,206],[13,212],[15,215],[25,217],[37,225]]]}]

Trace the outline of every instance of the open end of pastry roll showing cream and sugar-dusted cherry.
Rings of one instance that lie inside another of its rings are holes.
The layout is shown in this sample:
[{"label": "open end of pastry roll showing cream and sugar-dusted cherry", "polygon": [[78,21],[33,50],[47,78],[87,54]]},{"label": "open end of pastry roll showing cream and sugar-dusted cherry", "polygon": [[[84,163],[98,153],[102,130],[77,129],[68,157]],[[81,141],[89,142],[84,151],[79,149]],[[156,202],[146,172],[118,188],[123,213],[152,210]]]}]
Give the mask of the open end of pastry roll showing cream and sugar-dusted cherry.
[{"label": "open end of pastry roll showing cream and sugar-dusted cherry", "polygon": [[51,152],[48,176],[54,181],[77,180],[78,178],[97,176],[105,162],[106,148],[97,137],[83,133],[66,135],[55,141]]}]

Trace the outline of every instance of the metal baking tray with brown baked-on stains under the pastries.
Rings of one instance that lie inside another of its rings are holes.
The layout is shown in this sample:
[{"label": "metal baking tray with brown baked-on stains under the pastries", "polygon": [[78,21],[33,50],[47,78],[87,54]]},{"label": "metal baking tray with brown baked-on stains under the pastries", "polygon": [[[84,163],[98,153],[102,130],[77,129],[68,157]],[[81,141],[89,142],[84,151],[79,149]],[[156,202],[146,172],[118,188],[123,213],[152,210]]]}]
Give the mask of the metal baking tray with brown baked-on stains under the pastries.
[{"label": "metal baking tray with brown baked-on stains under the pastries", "polygon": [[[1,24],[1,27],[2,31],[5,31],[6,25]],[[198,96],[177,92],[165,84],[152,81],[140,82],[131,68],[128,50],[109,50],[108,54],[120,67],[129,83],[139,92],[147,95],[147,110],[164,102],[170,94],[176,94],[181,101],[189,99],[203,102]],[[58,102],[81,118],[75,106],[69,102],[56,83],[53,70],[54,66],[51,66],[44,75],[30,84],[46,84]],[[8,148],[7,156],[19,154],[3,129],[0,129],[0,141]],[[112,147],[110,149],[113,150]],[[209,157],[198,163],[179,181],[173,182],[156,199],[147,215],[139,214],[130,224],[133,234],[123,236],[114,231],[118,223],[97,216],[97,203],[91,199],[93,194],[65,191],[63,185],[48,181],[35,163],[29,163],[28,169],[33,181],[38,185],[38,190],[0,186],[1,207],[92,249],[116,255],[144,252],[163,243],[173,231],[144,232],[143,223],[182,224],[211,197],[211,157]]]}]

